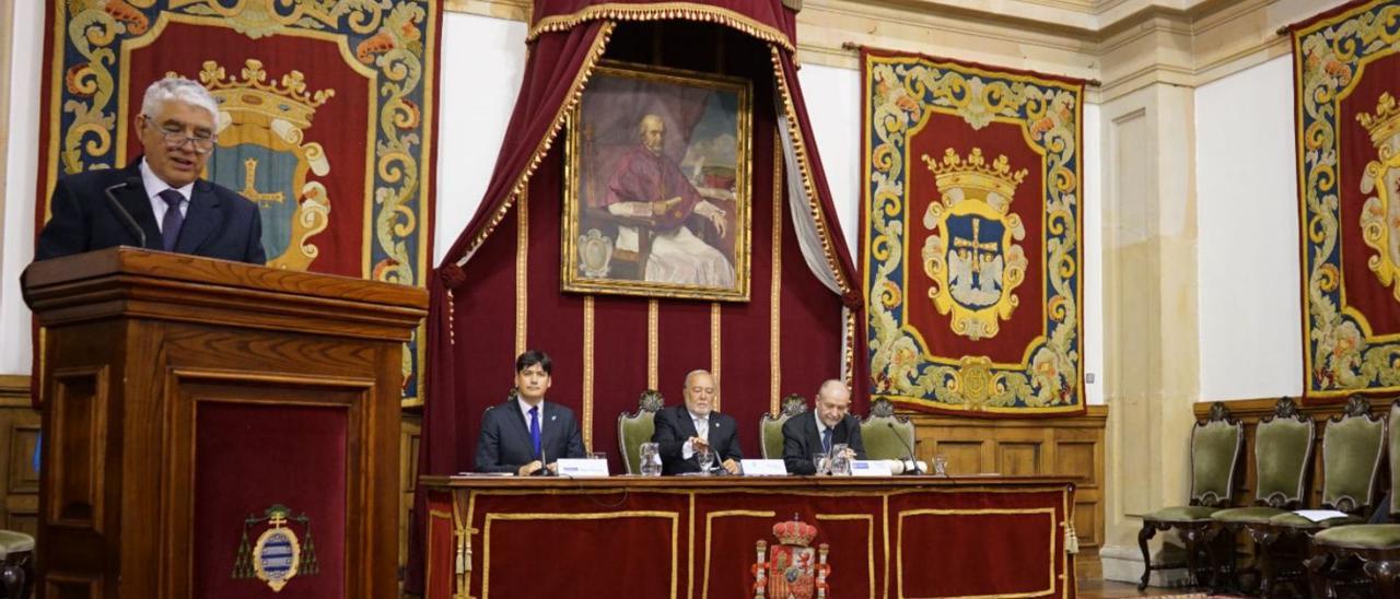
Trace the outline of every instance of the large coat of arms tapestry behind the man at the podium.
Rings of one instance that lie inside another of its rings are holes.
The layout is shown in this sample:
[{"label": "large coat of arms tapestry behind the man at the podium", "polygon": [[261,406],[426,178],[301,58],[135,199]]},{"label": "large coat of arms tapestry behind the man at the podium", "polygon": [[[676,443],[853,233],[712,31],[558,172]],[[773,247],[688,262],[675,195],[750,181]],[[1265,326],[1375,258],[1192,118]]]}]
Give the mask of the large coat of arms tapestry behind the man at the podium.
[{"label": "large coat of arms tapestry behind the man at the podium", "polygon": [[[255,202],[267,266],[424,286],[438,0],[63,0],[48,7],[36,224],[66,175],[122,168],[146,87],[218,102],[203,178]],[[420,397],[423,329],[403,353]]]}]

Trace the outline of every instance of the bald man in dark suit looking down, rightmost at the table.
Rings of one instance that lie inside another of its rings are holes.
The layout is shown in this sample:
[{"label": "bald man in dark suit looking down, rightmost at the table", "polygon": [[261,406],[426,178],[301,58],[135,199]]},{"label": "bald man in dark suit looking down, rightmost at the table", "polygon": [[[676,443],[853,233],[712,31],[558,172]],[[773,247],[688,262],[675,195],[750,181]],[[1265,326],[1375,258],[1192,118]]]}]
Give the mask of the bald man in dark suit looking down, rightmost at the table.
[{"label": "bald man in dark suit looking down, rightmost at the table", "polygon": [[783,423],[783,463],[788,474],[816,474],[812,456],[832,452],[846,444],[846,455],[865,459],[861,423],[850,414],[851,390],[846,383],[829,379],[816,392],[812,414],[797,414]]}]

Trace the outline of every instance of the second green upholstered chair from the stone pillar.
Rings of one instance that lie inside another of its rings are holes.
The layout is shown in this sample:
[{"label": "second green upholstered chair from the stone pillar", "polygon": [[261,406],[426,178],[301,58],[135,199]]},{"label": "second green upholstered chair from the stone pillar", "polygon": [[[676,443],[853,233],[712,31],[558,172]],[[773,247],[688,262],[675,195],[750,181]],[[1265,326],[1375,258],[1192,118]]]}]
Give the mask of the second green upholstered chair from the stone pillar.
[{"label": "second green upholstered chair from the stone pillar", "polygon": [[1298,411],[1292,397],[1281,397],[1274,413],[1259,421],[1254,428],[1254,505],[1211,514],[1215,523],[1208,536],[1212,540],[1224,537],[1217,547],[1215,588],[1222,584],[1235,589],[1242,586],[1235,551],[1242,530],[1268,525],[1271,518],[1302,508],[1315,430],[1312,418]]}]

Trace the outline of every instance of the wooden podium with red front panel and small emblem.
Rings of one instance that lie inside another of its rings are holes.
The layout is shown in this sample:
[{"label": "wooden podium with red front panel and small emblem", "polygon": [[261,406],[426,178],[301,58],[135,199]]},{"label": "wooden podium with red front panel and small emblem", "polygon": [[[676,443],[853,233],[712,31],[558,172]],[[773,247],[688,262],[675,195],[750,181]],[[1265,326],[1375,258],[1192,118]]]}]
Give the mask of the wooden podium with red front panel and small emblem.
[{"label": "wooden podium with red front panel and small emblem", "polygon": [[43,596],[398,593],[423,290],[130,248],[22,283],[46,327]]}]

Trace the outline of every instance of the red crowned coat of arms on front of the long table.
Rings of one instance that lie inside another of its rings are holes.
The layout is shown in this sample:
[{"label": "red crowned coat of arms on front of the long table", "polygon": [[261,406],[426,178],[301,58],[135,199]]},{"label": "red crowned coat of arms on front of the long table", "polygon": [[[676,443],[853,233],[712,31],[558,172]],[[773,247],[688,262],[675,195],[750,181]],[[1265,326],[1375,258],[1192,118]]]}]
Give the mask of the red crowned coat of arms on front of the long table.
[{"label": "red crowned coat of arms on front of the long table", "polygon": [[816,526],[792,518],[773,525],[778,539],[771,547],[759,540],[759,560],[753,564],[755,599],[812,599],[826,598],[826,564],[829,547],[811,547]]}]

